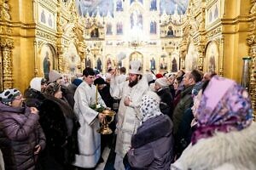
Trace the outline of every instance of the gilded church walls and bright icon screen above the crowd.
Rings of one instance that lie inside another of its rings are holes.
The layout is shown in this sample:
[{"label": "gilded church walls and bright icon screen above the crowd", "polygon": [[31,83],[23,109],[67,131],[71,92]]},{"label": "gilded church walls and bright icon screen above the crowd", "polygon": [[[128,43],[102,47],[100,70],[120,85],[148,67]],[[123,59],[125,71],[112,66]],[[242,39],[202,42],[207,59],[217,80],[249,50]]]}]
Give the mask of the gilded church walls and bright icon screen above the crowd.
[{"label": "gilded church walls and bright icon screen above the crowd", "polygon": [[[256,109],[256,0],[0,0],[0,89],[44,70],[216,71]],[[49,67],[49,68],[45,68]]]}]

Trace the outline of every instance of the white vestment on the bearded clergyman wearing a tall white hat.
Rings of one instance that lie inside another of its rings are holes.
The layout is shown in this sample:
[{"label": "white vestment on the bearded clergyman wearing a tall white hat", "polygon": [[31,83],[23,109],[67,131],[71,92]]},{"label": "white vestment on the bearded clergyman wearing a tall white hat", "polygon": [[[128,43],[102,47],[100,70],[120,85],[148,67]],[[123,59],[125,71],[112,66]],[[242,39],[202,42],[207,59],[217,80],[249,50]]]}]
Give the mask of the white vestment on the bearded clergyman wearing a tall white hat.
[{"label": "white vestment on the bearded clergyman wearing a tall white hat", "polygon": [[[117,159],[122,161],[127,151],[131,148],[131,136],[137,132],[137,127],[139,127],[141,122],[141,116],[139,112],[139,105],[143,94],[148,92],[148,82],[146,77],[143,77],[137,82],[132,88],[129,87],[129,81],[118,83],[116,77],[110,82],[110,94],[114,99],[121,99],[119,104],[119,112],[117,115],[118,122],[116,126],[116,145],[115,152],[117,154]],[[125,97],[131,99],[130,106],[125,106]],[[116,169],[123,169],[123,167],[117,166],[122,165],[122,162],[118,163],[115,161]]]}]

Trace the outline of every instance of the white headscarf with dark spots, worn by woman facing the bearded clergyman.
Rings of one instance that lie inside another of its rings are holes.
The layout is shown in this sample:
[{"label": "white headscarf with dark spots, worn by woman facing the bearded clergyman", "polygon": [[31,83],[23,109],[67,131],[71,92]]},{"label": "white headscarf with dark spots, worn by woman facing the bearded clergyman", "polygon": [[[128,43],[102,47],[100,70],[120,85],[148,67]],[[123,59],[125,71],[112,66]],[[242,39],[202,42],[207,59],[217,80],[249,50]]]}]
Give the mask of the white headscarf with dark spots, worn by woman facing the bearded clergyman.
[{"label": "white headscarf with dark spots, worn by woman facing the bearded clergyman", "polygon": [[160,116],[160,98],[154,92],[149,91],[148,94],[143,95],[140,111],[143,116],[142,122],[147,121],[154,116]]}]

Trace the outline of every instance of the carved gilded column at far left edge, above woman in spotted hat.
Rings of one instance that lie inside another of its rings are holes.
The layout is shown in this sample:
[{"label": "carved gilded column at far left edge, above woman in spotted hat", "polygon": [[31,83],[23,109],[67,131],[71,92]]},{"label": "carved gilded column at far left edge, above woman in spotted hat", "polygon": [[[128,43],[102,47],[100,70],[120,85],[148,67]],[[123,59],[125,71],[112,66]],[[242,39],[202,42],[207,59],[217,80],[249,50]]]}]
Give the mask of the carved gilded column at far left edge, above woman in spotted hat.
[{"label": "carved gilded column at far left edge, above woman in spotted hat", "polygon": [[14,42],[9,38],[1,38],[0,47],[2,48],[3,58],[3,88],[13,88],[13,59],[12,51]]}]

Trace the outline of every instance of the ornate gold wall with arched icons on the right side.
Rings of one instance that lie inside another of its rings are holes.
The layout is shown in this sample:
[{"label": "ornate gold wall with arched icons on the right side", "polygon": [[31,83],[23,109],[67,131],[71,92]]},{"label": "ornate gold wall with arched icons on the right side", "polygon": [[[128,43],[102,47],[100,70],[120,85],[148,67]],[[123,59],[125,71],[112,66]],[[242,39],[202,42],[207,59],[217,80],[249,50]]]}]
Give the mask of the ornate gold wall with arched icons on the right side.
[{"label": "ornate gold wall with arched icons on the right side", "polygon": [[[180,57],[184,68],[194,57],[198,69],[216,71],[218,75],[239,83],[242,58],[251,56],[249,93],[253,100],[254,113],[255,10],[255,0],[191,0],[187,10],[189,17],[183,25],[183,39],[180,42]],[[195,46],[192,50],[194,54],[190,53],[191,46]]]}]

